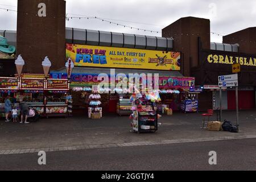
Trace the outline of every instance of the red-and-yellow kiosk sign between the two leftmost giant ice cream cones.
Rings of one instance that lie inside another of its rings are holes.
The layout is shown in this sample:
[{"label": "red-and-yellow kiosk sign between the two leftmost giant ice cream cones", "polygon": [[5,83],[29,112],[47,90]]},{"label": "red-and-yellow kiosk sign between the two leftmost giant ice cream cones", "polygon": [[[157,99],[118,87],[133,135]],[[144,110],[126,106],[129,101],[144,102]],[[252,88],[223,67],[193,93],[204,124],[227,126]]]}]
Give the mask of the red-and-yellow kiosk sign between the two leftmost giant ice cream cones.
[{"label": "red-and-yellow kiosk sign between the two leftmost giant ice cream cones", "polygon": [[41,79],[22,79],[21,89],[23,90],[43,90],[44,89],[44,80]]}]

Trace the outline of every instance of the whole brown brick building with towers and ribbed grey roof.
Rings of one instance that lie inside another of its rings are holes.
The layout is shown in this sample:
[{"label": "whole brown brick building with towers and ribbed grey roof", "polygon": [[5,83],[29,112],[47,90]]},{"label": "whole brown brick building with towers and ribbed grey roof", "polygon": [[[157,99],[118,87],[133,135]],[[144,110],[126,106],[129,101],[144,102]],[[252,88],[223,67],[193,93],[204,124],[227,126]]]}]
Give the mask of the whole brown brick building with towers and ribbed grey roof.
[{"label": "whole brown brick building with towers and ribbed grey roof", "polygon": [[[46,3],[47,16],[38,17],[37,5]],[[31,8],[32,7],[32,8]],[[65,28],[65,1],[63,0],[19,0],[17,34],[0,31],[7,39],[16,40],[17,55],[27,61],[24,72],[43,73],[42,59],[52,60],[52,69],[64,67],[65,43],[113,46],[127,48],[156,49],[181,52],[181,71],[170,75],[196,77],[196,84],[205,86],[199,94],[200,109],[217,109],[220,100],[217,85],[219,75],[232,74],[230,64],[212,64],[208,55],[242,57],[254,61],[253,65],[242,65],[239,75],[240,109],[255,108],[256,86],[256,27],[246,28],[223,37],[223,43],[210,42],[210,20],[195,17],[180,18],[163,28],[162,38],[152,36],[120,34],[113,32]],[[9,38],[8,38],[9,36]],[[171,39],[173,38],[173,40]],[[244,62],[246,63],[246,62]],[[254,66],[255,65],[255,66]],[[95,70],[88,68],[88,72]],[[157,71],[156,71],[157,72]],[[167,72],[162,73],[162,75]],[[169,73],[168,73],[169,74]],[[212,85],[212,86],[209,86]],[[234,88],[223,94],[224,109],[234,109]],[[249,101],[249,102],[247,102]]]}]

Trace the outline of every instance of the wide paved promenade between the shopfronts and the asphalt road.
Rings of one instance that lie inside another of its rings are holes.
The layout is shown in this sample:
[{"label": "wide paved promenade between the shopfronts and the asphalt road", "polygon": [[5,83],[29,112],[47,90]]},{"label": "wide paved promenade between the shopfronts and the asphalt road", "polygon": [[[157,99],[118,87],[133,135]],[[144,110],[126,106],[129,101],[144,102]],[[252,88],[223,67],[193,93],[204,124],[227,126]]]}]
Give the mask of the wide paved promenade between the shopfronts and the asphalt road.
[{"label": "wide paved promenade between the shopfronts and the asphalt road", "polygon": [[[28,125],[0,121],[0,155],[256,138],[256,110],[240,111],[240,133],[202,130],[200,114],[163,115],[157,133],[142,134],[130,133],[129,116],[116,114],[97,120],[86,118],[86,114],[42,118]],[[224,111],[223,118],[236,123],[235,111]],[[216,121],[216,115],[211,121]]]}]

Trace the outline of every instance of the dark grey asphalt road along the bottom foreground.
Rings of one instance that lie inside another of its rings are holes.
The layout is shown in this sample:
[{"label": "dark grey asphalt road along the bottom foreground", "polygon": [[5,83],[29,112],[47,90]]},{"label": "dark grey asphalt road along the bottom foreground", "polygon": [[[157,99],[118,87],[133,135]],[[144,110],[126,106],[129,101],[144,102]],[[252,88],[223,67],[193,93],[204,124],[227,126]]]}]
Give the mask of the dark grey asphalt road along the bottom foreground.
[{"label": "dark grey asphalt road along the bottom foreground", "polygon": [[[217,165],[209,165],[209,151],[217,152]],[[256,171],[255,139],[60,151],[46,155],[46,166],[39,166],[37,154],[0,155],[0,170]]]}]

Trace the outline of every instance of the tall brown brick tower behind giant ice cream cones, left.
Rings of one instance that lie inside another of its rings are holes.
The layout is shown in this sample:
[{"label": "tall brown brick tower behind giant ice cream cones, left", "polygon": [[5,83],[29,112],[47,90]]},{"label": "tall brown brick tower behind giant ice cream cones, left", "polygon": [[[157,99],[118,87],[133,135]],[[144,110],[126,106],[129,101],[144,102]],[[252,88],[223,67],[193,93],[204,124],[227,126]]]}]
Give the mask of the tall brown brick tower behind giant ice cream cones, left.
[{"label": "tall brown brick tower behind giant ice cream cones, left", "polygon": [[[46,5],[46,16],[38,14],[40,3]],[[64,0],[18,0],[17,55],[25,60],[23,73],[43,73],[45,56],[51,70],[64,67],[65,6]]]}]

